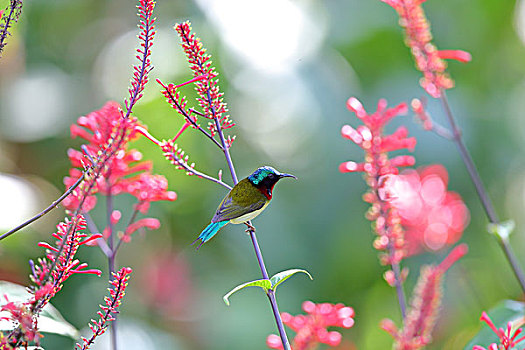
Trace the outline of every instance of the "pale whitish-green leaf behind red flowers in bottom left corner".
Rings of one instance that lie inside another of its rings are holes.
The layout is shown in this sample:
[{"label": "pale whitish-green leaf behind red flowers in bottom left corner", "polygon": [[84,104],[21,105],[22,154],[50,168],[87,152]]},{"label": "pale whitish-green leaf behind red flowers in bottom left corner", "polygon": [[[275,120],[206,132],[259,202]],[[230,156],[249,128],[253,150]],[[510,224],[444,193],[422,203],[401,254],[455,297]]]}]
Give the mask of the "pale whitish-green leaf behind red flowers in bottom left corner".
[{"label": "pale whitish-green leaf behind red flowers in bottom left corner", "polygon": [[[32,295],[26,290],[26,287],[0,281],[0,304],[5,303],[3,295],[7,295],[9,301],[26,302]],[[2,317],[8,317],[7,311],[0,312],[0,331],[10,331],[13,329],[13,323],[9,320],[1,320]],[[78,339],[79,332],[69,322],[67,322],[60,312],[51,303],[48,303],[38,316],[38,330],[43,333],[54,333],[64,335],[73,339]]]}]

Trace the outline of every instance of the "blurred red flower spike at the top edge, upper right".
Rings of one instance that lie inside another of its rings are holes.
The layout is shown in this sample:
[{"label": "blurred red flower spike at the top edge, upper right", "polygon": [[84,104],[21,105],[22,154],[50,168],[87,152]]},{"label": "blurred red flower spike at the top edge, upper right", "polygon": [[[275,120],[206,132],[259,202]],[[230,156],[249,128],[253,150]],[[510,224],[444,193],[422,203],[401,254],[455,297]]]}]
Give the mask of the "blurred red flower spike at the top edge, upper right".
[{"label": "blurred red flower spike at the top edge, upper right", "polygon": [[441,89],[454,87],[454,81],[446,72],[444,59],[469,62],[472,57],[462,50],[439,51],[432,44],[430,24],[421,4],[425,0],[381,0],[392,6],[399,14],[399,24],[405,30],[405,43],[411,49],[416,68],[423,73],[421,86],[435,98],[441,96]]}]

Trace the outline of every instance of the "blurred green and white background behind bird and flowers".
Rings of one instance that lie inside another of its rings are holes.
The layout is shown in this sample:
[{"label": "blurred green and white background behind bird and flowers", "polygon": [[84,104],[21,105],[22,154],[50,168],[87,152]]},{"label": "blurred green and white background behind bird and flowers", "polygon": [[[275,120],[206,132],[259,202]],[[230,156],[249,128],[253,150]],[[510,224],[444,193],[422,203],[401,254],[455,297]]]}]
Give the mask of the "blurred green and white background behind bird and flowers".
[{"label": "blurred green and white background behind bird and flowers", "polygon": [[[0,0],[4,8],[7,0]],[[451,62],[457,87],[449,100],[481,176],[502,219],[517,229],[512,245],[525,267],[525,2],[431,0],[424,4],[440,49],[463,49],[473,60]],[[79,148],[69,126],[106,101],[127,97],[137,46],[133,1],[34,0],[24,4],[0,60],[0,232],[16,226],[64,190]],[[156,78],[183,82],[190,77],[173,25],[190,20],[220,72],[237,135],[231,149],[240,177],[260,165],[298,176],[283,181],[272,205],[255,220],[270,274],[304,268],[281,286],[281,311],[297,314],[304,300],[342,302],[355,309],[355,325],[342,330],[344,349],[388,349],[392,339],[379,328],[383,318],[400,323],[394,289],[382,278],[385,267],[373,249],[374,234],[364,217],[366,185],[361,174],[342,174],[339,163],[361,161],[362,151],[340,136],[344,124],[360,122],[345,108],[355,96],[369,112],[377,100],[389,105],[425,95],[420,73],[403,43],[398,17],[388,5],[360,0],[267,0],[261,2],[159,1],[151,57],[155,69],[135,115],[157,138],[169,138],[183,124],[159,93]],[[191,99],[194,92],[185,90]],[[445,122],[439,101],[428,102]],[[442,164],[448,190],[461,195],[470,224],[460,241],[469,254],[447,274],[443,308],[429,349],[461,349],[480,329],[479,316],[502,299],[522,298],[503,253],[486,233],[487,220],[455,146],[425,132],[409,116],[417,138],[416,166]],[[391,128],[391,129],[390,129]],[[190,160],[215,175],[224,157],[193,130],[179,144]],[[132,145],[154,172],[169,180],[175,202],[153,203],[148,216],[158,230],[134,235],[117,265],[134,274],[122,307],[121,344],[126,349],[264,349],[276,333],[267,299],[257,289],[231,298],[234,286],[260,278],[244,228],[228,226],[198,252],[190,243],[207,225],[223,188],[175,170],[158,148],[139,139]],[[131,208],[133,198],[117,205]],[[28,284],[28,259],[42,255],[37,242],[50,240],[62,209],[0,244],[0,280]],[[94,217],[104,226],[104,208]],[[450,247],[423,252],[403,262],[410,269],[407,294],[421,264],[437,263]],[[75,327],[95,317],[107,287],[107,262],[96,247],[81,259],[104,271],[102,278],[73,276],[52,301]],[[293,332],[289,332],[293,338]],[[72,340],[46,335],[46,349],[69,349]],[[101,340],[96,349],[107,348]],[[484,344],[486,345],[486,344]]]}]

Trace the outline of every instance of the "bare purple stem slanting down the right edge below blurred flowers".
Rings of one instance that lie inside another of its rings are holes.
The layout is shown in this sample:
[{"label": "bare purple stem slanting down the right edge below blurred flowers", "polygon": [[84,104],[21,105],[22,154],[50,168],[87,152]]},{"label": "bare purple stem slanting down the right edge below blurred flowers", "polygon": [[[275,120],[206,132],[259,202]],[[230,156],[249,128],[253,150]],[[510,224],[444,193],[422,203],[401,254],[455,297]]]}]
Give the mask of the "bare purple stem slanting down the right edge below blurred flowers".
[{"label": "bare purple stem slanting down the right edge below blurred flowers", "polygon": [[[470,176],[470,179],[472,180],[472,183],[474,184],[474,187],[476,188],[476,192],[481,201],[481,205],[483,206],[483,209],[485,210],[485,213],[487,214],[487,218],[492,224],[499,225],[500,220],[498,218],[498,215],[496,214],[494,205],[492,204],[492,201],[490,200],[488,192],[485,189],[483,182],[481,181],[481,177],[479,176],[479,172],[476,169],[476,165],[474,164],[474,161],[472,160],[472,156],[470,155],[470,152],[468,151],[467,147],[465,146],[465,143],[463,142],[461,131],[459,130],[458,125],[456,124],[456,120],[454,118],[454,115],[452,114],[452,110],[450,108],[450,104],[448,103],[448,98],[444,90],[441,90],[441,101],[443,103],[443,108],[448,118],[450,127],[452,128],[452,133],[454,136],[453,141],[458,147],[461,159],[463,160],[463,163],[465,164],[465,167],[467,168],[467,172]],[[523,274],[523,270],[521,269],[518,263],[516,254],[514,253],[511,245],[509,244],[508,239],[500,237],[500,239],[498,239],[498,242],[500,243],[500,246],[503,249],[503,252],[505,253],[506,258],[509,261],[509,264],[512,268],[512,271],[514,272],[514,275],[518,279],[521,289],[523,290],[523,292],[525,292],[525,275]]]}]

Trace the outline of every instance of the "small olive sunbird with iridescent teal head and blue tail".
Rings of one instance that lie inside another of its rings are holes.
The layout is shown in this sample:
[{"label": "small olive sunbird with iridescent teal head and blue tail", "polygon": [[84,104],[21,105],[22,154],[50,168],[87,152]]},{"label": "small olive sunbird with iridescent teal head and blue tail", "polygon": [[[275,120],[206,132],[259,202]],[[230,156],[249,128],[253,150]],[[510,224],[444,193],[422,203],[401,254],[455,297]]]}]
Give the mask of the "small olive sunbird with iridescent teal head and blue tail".
[{"label": "small olive sunbird with iridescent teal head and blue tail", "polygon": [[262,166],[239,181],[224,197],[211,223],[193,241],[192,245],[200,240],[201,243],[197,247],[199,249],[228,223],[245,223],[249,229],[255,230],[248,222],[266,209],[272,199],[273,187],[285,177],[297,179],[295,175],[280,173],[271,166]]}]

